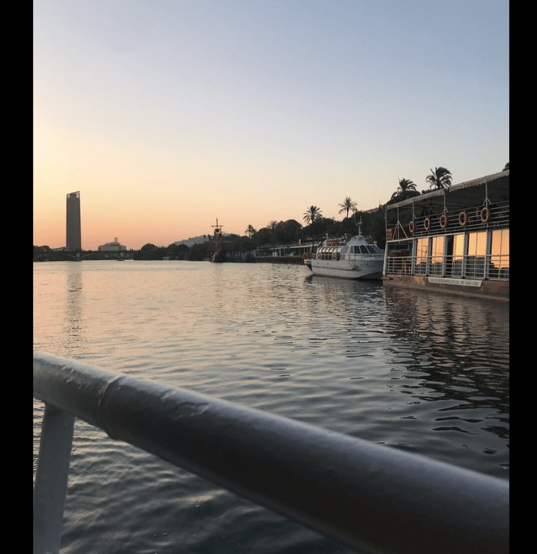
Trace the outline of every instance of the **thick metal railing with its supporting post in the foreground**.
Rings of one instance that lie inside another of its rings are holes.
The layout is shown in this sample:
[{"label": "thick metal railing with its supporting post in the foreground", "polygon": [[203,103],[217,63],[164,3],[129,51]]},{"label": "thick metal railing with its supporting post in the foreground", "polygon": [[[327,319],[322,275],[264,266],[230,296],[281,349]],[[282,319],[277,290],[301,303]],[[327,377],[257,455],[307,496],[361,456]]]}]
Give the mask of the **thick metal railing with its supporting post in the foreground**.
[{"label": "thick metal railing with its supporting post in the foreground", "polygon": [[33,371],[35,554],[60,548],[74,417],[360,552],[509,552],[507,481],[42,352]]}]

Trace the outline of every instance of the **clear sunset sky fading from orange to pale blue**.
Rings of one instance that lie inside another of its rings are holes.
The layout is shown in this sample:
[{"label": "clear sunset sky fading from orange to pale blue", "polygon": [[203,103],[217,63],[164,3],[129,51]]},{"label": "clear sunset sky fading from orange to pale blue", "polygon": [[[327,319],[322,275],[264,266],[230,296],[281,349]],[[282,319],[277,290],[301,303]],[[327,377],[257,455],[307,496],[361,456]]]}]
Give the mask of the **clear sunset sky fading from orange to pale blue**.
[{"label": "clear sunset sky fading from orange to pale blue", "polygon": [[509,1],[34,0],[34,244],[129,249],[509,161]]}]

